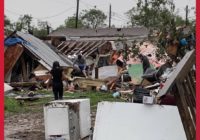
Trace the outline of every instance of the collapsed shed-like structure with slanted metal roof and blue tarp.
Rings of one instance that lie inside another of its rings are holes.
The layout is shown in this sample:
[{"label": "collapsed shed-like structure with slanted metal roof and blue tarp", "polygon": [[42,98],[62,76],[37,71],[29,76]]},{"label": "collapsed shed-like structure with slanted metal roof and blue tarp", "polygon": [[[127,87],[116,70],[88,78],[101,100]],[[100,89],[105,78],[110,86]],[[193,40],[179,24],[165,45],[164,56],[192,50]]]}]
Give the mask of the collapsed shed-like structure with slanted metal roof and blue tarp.
[{"label": "collapsed shed-like structure with slanted metal roof and blue tarp", "polygon": [[28,82],[31,74],[44,78],[54,61],[63,67],[72,64],[54,47],[28,33],[13,32],[4,44],[5,82]]}]

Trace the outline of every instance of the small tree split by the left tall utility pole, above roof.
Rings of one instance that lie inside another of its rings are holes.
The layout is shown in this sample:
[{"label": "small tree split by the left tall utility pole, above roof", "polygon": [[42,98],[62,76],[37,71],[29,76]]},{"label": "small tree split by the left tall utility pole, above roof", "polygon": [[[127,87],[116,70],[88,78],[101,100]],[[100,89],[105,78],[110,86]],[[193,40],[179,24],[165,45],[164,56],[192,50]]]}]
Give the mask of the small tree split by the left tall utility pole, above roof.
[{"label": "small tree split by the left tall utility pole, above roof", "polygon": [[[75,28],[75,24],[76,24],[76,17],[75,16],[72,16],[72,17],[68,17],[66,20],[65,20],[65,26],[67,28]],[[83,25],[83,22],[81,19],[78,20],[78,28],[82,28],[84,27]]]}]

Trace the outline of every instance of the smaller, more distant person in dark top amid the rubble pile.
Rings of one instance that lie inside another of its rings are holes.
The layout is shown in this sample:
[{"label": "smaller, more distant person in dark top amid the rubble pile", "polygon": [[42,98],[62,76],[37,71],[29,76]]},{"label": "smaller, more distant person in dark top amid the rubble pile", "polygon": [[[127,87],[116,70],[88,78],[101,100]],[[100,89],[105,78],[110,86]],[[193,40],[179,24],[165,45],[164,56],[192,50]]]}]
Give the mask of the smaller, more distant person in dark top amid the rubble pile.
[{"label": "smaller, more distant person in dark top amid the rubble pile", "polygon": [[84,74],[84,76],[86,78],[88,77],[87,74],[86,74],[86,67],[87,67],[86,61],[85,61],[84,57],[81,54],[78,55],[77,59],[74,61],[73,66],[74,67],[78,67],[79,70],[82,71],[82,73]]}]

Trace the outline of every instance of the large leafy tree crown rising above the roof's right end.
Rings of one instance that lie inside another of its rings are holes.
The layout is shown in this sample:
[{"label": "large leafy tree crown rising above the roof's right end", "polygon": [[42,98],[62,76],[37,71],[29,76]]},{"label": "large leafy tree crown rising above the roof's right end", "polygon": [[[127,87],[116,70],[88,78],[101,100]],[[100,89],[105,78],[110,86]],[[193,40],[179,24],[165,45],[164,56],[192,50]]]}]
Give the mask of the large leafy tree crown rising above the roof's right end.
[{"label": "large leafy tree crown rising above the roof's right end", "polygon": [[171,25],[175,5],[171,0],[138,0],[126,14],[132,26],[159,28]]}]

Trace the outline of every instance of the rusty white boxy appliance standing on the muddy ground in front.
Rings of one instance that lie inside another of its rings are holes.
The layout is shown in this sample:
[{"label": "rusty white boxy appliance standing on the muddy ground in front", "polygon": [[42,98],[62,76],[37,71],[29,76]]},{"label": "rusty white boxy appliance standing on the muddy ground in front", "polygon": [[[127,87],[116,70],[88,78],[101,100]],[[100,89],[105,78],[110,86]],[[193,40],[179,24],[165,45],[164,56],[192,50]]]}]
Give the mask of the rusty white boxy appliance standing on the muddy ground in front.
[{"label": "rusty white boxy appliance standing on the muddy ground in front", "polygon": [[45,140],[79,140],[90,135],[90,100],[56,100],[44,106]]}]

